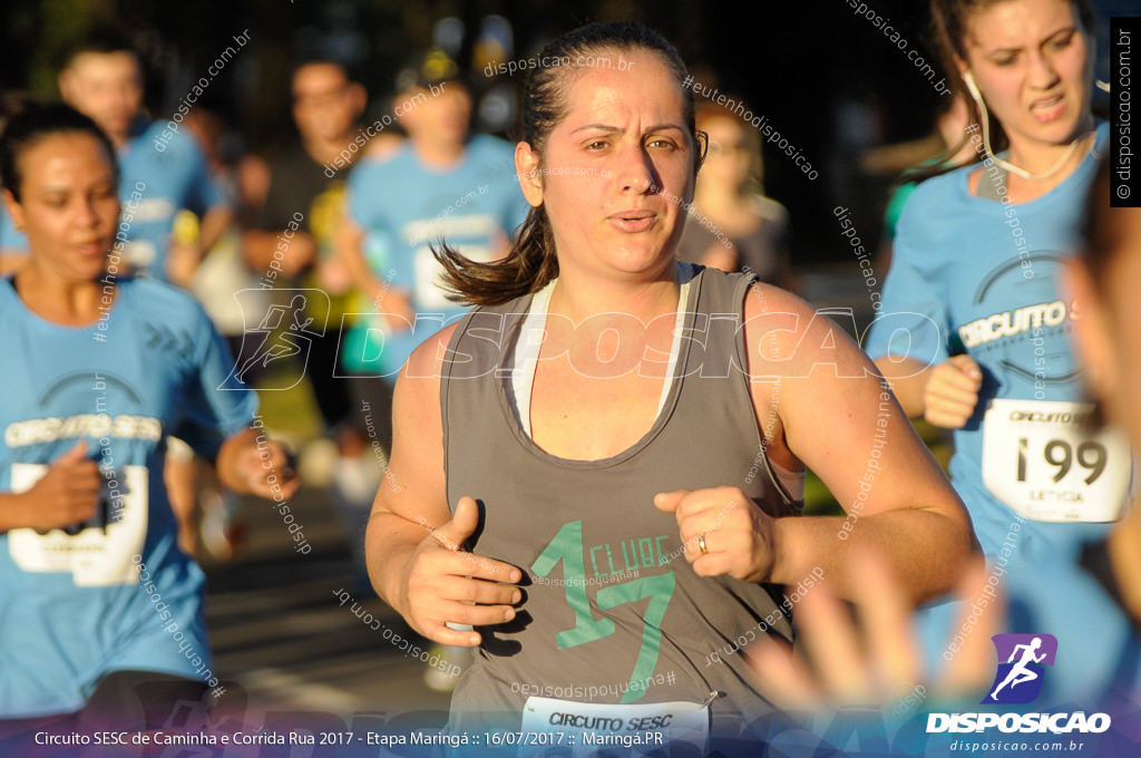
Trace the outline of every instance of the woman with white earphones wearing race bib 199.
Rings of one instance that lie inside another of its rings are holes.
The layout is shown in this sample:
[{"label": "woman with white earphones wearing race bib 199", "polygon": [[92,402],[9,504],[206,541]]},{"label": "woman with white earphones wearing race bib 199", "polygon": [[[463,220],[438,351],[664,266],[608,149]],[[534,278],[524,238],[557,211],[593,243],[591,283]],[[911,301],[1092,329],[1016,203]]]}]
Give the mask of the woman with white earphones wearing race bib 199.
[{"label": "woman with white earphones wearing race bib 199", "polygon": [[982,162],[909,199],[867,350],[909,416],[955,430],[952,482],[1001,576],[1103,535],[1133,475],[1120,436],[1085,430],[1093,406],[1068,342],[1079,304],[1058,288],[1108,148],[1090,110],[1094,13],[1090,0],[931,11]]}]

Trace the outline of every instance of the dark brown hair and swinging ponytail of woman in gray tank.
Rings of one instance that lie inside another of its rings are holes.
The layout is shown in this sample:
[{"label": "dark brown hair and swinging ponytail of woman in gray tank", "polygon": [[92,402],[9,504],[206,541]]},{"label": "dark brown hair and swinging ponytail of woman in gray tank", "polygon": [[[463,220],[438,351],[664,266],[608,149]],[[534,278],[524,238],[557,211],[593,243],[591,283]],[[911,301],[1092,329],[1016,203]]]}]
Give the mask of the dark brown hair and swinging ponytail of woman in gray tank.
[{"label": "dark brown hair and swinging ponytail of woman in gray tank", "polygon": [[[566,114],[568,78],[575,70],[575,66],[567,65],[569,62],[577,61],[580,56],[628,50],[645,50],[661,56],[681,87],[685,123],[696,145],[694,91],[682,83],[688,72],[681,56],[661,34],[633,22],[588,24],[543,48],[539,61],[553,61],[555,65],[534,68],[527,80],[520,142],[542,155],[551,130]],[[697,155],[695,171],[701,163]],[[442,279],[447,298],[467,305],[500,305],[537,292],[559,275],[555,232],[542,205],[531,209],[511,250],[501,260],[489,264],[469,260],[443,240],[438,247],[432,245],[432,253],[444,267]]]}]

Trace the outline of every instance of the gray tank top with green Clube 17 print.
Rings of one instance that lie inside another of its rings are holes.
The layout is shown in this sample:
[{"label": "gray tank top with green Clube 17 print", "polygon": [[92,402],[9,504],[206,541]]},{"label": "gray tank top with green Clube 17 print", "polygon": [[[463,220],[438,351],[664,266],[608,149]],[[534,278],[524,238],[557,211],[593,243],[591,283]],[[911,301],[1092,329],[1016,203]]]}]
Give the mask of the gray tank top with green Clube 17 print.
[{"label": "gray tank top with green Clube 17 print", "polygon": [[641,440],[604,460],[544,452],[511,408],[505,366],[532,296],[472,311],[455,330],[440,382],[448,506],[480,502],[468,547],[518,566],[524,603],[510,623],[480,629],[453,729],[517,729],[528,695],[644,704],[719,693],[714,713],[771,710],[725,650],[766,632],[792,639],[782,588],[698,576],[674,516],[653,502],[735,485],[774,516],[800,511],[764,454],[741,368],[753,279],[698,271],[665,403]]}]

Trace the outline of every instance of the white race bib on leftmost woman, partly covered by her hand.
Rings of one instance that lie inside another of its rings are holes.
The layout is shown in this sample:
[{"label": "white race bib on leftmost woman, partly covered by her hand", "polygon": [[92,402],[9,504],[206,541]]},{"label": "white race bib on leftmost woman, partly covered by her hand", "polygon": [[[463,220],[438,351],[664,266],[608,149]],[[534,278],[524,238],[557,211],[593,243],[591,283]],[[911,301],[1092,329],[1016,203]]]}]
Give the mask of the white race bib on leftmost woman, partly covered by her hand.
[{"label": "white race bib on leftmost woman, partly covered by her hand", "polygon": [[[30,490],[48,467],[13,463],[11,490]],[[104,476],[96,514],[82,524],[42,534],[34,529],[8,532],[8,551],[22,571],[71,573],[76,587],[114,587],[138,581],[147,526],[147,468],[121,466]]]}]

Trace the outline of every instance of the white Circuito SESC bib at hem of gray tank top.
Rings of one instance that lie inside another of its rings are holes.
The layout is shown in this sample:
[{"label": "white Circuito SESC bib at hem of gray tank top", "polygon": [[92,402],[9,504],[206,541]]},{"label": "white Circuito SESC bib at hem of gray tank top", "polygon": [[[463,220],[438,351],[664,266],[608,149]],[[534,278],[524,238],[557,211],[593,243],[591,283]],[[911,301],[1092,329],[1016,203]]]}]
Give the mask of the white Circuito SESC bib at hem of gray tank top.
[{"label": "white Circuito SESC bib at hem of gray tank top", "polygon": [[623,756],[661,756],[683,742],[704,756],[709,755],[710,709],[681,701],[620,705],[531,696],[523,707],[523,733],[561,734],[559,755],[567,755],[563,749],[572,756],[589,756],[617,748]]}]

